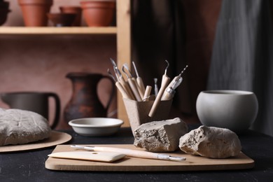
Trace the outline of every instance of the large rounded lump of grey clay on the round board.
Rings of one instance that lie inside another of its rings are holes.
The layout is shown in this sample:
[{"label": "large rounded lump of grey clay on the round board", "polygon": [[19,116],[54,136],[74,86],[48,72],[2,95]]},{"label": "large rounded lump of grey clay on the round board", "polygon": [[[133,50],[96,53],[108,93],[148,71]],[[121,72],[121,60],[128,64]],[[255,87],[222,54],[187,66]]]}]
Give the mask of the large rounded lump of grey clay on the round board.
[{"label": "large rounded lump of grey clay on the round board", "polygon": [[48,120],[38,113],[0,109],[0,146],[27,144],[50,137]]}]

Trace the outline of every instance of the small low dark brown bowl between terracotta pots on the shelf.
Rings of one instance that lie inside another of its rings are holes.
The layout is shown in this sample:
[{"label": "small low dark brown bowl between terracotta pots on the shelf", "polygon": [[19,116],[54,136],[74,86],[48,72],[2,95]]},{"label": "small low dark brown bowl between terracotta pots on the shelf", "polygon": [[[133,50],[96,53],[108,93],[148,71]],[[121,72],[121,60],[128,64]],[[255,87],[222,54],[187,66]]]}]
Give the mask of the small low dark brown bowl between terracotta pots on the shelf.
[{"label": "small low dark brown bowl between terracotta pots on the shelf", "polygon": [[55,27],[71,27],[75,18],[75,13],[48,13],[48,19]]}]

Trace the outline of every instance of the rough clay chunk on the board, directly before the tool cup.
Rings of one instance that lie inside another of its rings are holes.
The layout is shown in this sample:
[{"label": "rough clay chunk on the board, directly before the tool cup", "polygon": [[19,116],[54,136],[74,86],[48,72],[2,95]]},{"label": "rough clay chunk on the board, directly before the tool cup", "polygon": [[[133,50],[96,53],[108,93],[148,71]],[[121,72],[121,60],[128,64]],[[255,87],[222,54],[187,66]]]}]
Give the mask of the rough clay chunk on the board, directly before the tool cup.
[{"label": "rough clay chunk on the board, directly before the tool cup", "polygon": [[188,132],[180,118],[145,123],[134,130],[134,146],[151,152],[170,152],[179,148],[179,138]]}]

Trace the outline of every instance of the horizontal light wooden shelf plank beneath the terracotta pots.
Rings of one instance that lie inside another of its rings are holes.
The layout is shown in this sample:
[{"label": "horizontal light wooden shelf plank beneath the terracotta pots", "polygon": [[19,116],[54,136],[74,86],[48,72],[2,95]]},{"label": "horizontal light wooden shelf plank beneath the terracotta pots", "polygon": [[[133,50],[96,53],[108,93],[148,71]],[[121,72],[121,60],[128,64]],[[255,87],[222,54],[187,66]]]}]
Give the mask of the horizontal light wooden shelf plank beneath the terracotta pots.
[{"label": "horizontal light wooden shelf plank beneath the terracotta pots", "polygon": [[116,27],[0,27],[0,34],[116,34]]}]

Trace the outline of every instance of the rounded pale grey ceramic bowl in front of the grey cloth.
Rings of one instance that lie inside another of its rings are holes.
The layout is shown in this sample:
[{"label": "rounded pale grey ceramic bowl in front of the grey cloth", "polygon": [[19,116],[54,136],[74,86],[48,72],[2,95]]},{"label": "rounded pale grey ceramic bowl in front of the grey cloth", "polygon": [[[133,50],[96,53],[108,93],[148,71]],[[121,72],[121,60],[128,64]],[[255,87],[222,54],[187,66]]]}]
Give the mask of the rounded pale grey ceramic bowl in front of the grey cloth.
[{"label": "rounded pale grey ceramic bowl in front of the grey cloth", "polygon": [[197,116],[203,125],[244,132],[258,114],[258,100],[253,92],[240,90],[203,91],[197,97]]}]

